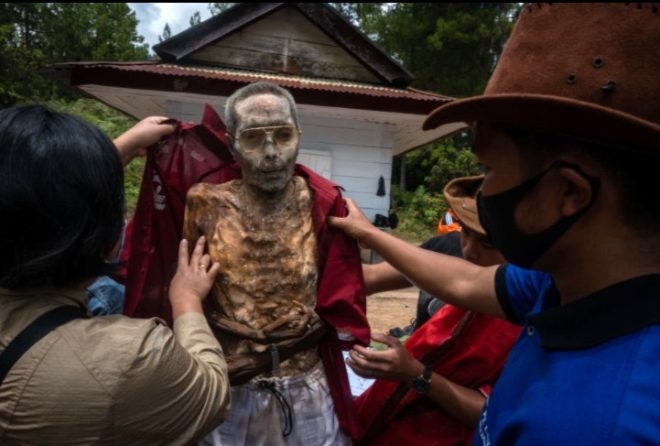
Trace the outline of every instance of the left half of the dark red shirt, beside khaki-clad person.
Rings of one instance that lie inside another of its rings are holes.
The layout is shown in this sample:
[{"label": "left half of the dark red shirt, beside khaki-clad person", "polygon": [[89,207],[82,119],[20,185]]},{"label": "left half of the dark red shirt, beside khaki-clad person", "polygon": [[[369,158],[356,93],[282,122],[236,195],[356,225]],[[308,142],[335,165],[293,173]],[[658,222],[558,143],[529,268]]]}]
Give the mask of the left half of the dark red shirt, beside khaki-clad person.
[{"label": "left half of the dark red shirt, beside khaki-clad person", "polygon": [[225,169],[233,162],[225,131],[220,117],[206,106],[201,124],[178,123],[174,133],[147,152],[137,207],[121,252],[125,268],[117,275],[126,285],[124,314],[158,316],[172,325],[167,292],[176,271],[186,193],[198,182],[236,177]]}]

